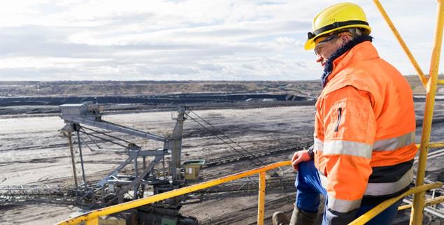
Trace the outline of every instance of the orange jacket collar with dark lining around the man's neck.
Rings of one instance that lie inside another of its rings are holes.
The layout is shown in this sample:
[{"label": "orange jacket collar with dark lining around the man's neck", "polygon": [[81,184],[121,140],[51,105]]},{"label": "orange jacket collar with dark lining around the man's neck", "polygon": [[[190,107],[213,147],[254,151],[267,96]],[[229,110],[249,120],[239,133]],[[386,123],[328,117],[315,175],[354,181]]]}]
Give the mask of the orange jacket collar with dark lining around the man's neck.
[{"label": "orange jacket collar with dark lining around the man's neck", "polygon": [[372,39],[373,37],[368,35],[358,36],[333,52],[329,59],[327,59],[327,64],[324,66],[322,87],[325,87],[327,82],[345,66],[356,61],[378,58],[378,52],[371,44]]}]

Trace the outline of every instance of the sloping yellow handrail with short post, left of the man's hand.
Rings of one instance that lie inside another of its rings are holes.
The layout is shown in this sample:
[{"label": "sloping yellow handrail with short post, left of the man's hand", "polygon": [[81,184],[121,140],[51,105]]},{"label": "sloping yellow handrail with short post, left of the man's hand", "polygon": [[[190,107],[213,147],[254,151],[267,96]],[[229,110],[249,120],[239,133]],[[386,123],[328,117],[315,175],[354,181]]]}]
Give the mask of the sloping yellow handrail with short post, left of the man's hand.
[{"label": "sloping yellow handrail with short post, left of the man's hand", "polygon": [[187,187],[182,187],[180,189],[167,191],[161,194],[156,194],[154,196],[149,196],[146,198],[141,198],[134,201],[129,201],[127,203],[121,203],[118,205],[109,206],[106,208],[101,208],[99,210],[94,210],[91,212],[87,212],[83,215],[80,215],[78,217],[74,217],[71,219],[66,219],[63,222],[60,222],[59,224],[79,224],[80,222],[87,222],[87,225],[96,225],[99,224],[98,218],[104,215],[110,215],[116,212],[122,212],[124,210],[129,210],[132,208],[137,208],[142,205],[148,205],[150,203],[155,203],[157,201],[165,200],[166,198],[173,198],[176,196],[180,196],[182,194],[188,194],[193,191],[198,191],[201,189],[206,189],[208,187],[213,187],[218,184],[222,184],[225,182],[229,182],[231,180],[236,180],[243,177],[248,177],[251,175],[255,175],[259,173],[259,200],[258,200],[258,207],[257,207],[257,224],[263,225],[264,224],[264,203],[265,203],[265,178],[266,178],[266,171],[271,170],[273,168],[278,168],[280,166],[289,166],[291,165],[291,161],[281,161],[275,164],[270,164],[267,166],[262,166],[259,168],[255,168],[252,170],[247,170],[242,173],[236,173],[234,175],[227,175],[225,177],[221,177],[215,180],[208,180],[206,182],[201,182],[199,184],[194,184]]}]

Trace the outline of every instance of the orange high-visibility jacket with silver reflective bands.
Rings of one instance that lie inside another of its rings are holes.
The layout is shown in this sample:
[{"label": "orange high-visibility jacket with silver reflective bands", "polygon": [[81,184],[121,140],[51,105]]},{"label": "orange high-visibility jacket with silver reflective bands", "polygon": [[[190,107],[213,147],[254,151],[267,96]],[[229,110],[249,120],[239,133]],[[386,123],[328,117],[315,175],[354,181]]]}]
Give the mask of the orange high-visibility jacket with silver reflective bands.
[{"label": "orange high-visibility jacket with silver reflective bands", "polygon": [[415,128],[410,85],[370,41],[336,58],[315,118],[315,166],[328,210],[350,212],[363,196],[408,189]]}]

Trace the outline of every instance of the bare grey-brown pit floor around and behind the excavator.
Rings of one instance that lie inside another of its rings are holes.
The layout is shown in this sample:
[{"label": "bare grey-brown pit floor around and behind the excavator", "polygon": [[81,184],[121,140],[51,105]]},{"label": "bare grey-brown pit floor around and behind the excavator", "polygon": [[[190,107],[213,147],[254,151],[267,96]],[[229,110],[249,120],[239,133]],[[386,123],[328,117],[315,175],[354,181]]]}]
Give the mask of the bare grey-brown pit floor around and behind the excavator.
[{"label": "bare grey-brown pit floor around and behind the excavator", "polygon": [[[422,117],[424,102],[415,103],[417,119]],[[314,106],[251,108],[229,110],[199,110],[196,113],[248,151],[265,150],[282,145],[310,140],[313,136]],[[167,135],[175,121],[171,112],[133,113],[107,115],[103,119],[131,126],[151,133]],[[192,117],[196,117],[191,114]],[[444,116],[443,101],[436,102],[435,117]],[[68,185],[73,183],[71,159],[66,137],[59,129],[64,123],[59,117],[13,117],[0,118],[0,186],[8,185]],[[110,133],[116,135],[117,133]],[[421,127],[417,128],[417,142],[420,141]],[[444,123],[434,124],[432,140],[444,136]],[[157,149],[162,143],[118,135],[144,149]],[[126,158],[122,147],[110,143],[89,142],[83,146],[85,170],[88,181],[101,179],[111,169]],[[183,157],[187,159],[216,159],[238,154],[229,146],[215,138],[209,131],[189,118],[185,122]],[[288,160],[292,151],[262,157],[265,163]],[[443,156],[429,161],[427,177],[443,180]],[[77,166],[80,170],[80,164]],[[255,168],[251,161],[236,161],[230,164],[204,168],[204,180],[222,175]],[[284,173],[292,173],[291,168],[283,168]],[[78,172],[80,177],[80,171]],[[273,212],[291,212],[294,191],[269,191],[266,195],[266,224],[271,224]],[[22,203],[20,205],[0,205],[0,224],[54,224],[66,219],[78,208],[50,203]],[[257,191],[232,194],[222,199],[211,199],[201,203],[185,205],[185,215],[192,215],[201,224],[255,224],[257,217]],[[408,213],[408,212],[406,212]],[[398,224],[405,224],[408,215],[400,215]],[[443,224],[439,219],[426,215],[424,224]]]}]

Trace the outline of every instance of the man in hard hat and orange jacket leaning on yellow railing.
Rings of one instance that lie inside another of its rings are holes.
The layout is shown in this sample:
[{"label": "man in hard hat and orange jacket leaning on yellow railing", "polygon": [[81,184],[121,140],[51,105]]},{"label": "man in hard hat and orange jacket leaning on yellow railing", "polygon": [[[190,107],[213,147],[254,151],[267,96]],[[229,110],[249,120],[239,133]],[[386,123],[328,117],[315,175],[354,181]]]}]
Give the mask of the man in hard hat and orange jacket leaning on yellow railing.
[{"label": "man in hard hat and orange jacket leaning on yellow railing", "polygon": [[[320,194],[322,224],[348,224],[413,181],[415,112],[408,82],[380,59],[364,11],[353,3],[330,6],[313,20],[306,50],[324,66],[316,102],[315,140],[294,153],[298,170],[291,219],[273,224],[315,224]],[[391,224],[401,201],[368,224]]]}]

